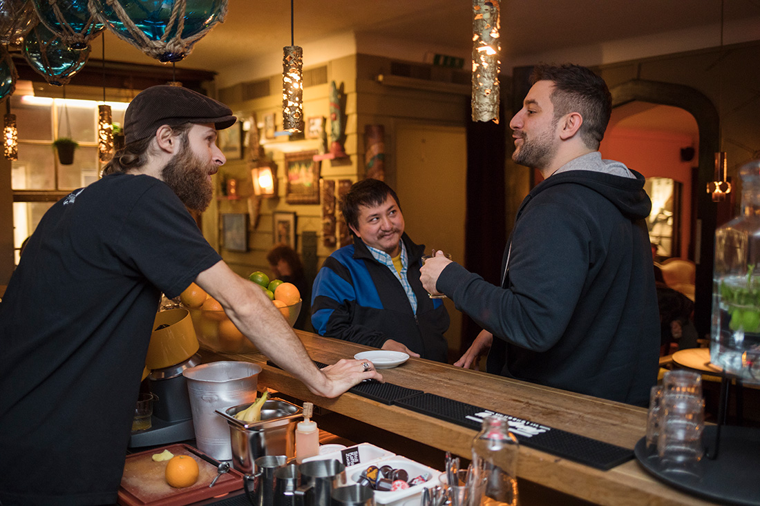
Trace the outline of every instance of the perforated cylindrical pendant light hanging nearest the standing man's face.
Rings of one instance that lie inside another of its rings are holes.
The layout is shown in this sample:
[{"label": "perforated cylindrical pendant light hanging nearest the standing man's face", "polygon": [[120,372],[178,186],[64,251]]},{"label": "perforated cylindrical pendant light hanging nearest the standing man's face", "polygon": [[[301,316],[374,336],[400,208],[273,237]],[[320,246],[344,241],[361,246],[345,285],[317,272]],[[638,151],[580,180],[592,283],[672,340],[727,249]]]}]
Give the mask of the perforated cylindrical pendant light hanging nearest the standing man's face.
[{"label": "perforated cylindrical pendant light hanging nearest the standing man's face", "polygon": [[499,0],[473,0],[473,122],[499,122]]}]

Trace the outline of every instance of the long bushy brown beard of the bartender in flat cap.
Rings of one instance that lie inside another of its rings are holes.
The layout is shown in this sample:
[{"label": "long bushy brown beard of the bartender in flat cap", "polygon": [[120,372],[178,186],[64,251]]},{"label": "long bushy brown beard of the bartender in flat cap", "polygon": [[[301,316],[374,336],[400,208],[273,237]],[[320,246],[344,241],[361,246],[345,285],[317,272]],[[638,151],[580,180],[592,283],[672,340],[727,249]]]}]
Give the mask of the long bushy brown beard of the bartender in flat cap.
[{"label": "long bushy brown beard of the bartender in flat cap", "polygon": [[214,186],[208,180],[208,175],[214,172],[214,168],[199,160],[185,143],[179,153],[163,167],[161,177],[182,204],[202,213],[214,195]]}]

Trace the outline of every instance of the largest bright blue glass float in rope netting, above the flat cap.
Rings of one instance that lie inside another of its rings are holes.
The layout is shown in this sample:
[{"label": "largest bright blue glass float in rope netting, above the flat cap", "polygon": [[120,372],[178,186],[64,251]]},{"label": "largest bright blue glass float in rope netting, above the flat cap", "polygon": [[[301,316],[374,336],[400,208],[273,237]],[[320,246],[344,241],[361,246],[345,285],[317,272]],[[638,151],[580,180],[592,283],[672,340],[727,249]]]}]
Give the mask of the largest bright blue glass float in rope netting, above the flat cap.
[{"label": "largest bright blue glass float in rope netting, above the flat cap", "polygon": [[227,0],[90,0],[90,11],[97,11],[98,21],[150,57],[179,62],[211,27],[224,21]]}]

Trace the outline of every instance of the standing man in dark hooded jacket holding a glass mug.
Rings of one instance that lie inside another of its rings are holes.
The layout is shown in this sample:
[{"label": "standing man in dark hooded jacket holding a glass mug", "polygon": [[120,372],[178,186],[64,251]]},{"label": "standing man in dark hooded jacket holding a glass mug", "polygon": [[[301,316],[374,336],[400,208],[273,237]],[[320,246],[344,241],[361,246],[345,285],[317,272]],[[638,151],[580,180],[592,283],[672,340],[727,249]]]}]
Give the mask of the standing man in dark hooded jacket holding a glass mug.
[{"label": "standing man in dark hooded jacket holding a glass mug", "polygon": [[485,329],[454,365],[489,353],[495,374],[646,405],[660,325],[644,176],[600,156],[612,109],[601,77],[541,66],[532,82],[509,125],[512,159],[545,180],[518,210],[501,286],[441,256],[423,286]]}]

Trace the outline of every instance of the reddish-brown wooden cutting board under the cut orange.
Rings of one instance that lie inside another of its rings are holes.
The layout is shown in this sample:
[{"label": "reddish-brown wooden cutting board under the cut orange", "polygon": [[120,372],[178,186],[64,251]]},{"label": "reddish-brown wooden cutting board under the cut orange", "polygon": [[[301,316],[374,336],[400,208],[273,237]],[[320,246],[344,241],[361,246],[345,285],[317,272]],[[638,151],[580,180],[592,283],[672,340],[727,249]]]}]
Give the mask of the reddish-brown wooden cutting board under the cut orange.
[{"label": "reddish-brown wooden cutting board under the cut orange", "polygon": [[[202,453],[187,444],[170,444],[169,446],[143,451],[127,456],[124,465],[122,484],[119,487],[119,504],[122,506],[182,506],[196,501],[226,495],[233,490],[242,489],[242,474],[233,470],[224,473],[213,487],[208,485],[217,476],[217,466],[198,457]],[[198,462],[198,481],[184,489],[175,489],[166,483],[164,473],[166,463],[154,462],[154,454],[169,450],[175,455],[188,455]],[[195,453],[193,453],[195,452]]]}]

